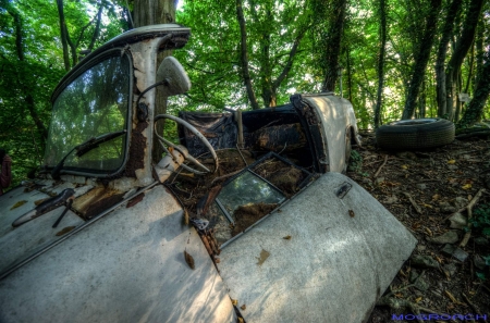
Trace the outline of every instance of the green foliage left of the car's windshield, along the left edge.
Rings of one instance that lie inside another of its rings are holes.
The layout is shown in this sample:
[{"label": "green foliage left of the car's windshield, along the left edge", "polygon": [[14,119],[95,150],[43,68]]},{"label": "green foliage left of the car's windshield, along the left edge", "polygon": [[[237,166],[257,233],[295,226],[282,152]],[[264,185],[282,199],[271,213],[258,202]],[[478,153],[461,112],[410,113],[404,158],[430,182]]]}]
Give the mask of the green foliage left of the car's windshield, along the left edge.
[{"label": "green foliage left of the car's windshield, along the left edge", "polygon": [[[66,24],[74,40],[96,14],[97,1],[65,0]],[[122,32],[118,9],[108,1],[96,47]],[[106,26],[107,25],[107,26]],[[88,26],[81,48],[91,38]],[[12,186],[42,164],[51,92],[65,74],[54,1],[0,0],[0,148],[12,157]],[[38,124],[36,123],[38,122]]]}]

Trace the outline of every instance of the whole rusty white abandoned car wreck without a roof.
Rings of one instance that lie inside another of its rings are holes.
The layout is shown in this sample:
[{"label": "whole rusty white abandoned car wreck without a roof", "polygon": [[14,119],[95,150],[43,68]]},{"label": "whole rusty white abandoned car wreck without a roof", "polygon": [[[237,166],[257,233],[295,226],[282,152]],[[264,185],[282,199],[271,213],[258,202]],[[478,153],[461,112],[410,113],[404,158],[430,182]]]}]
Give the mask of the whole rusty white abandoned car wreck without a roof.
[{"label": "whole rusty white abandoned car wreck without a roof", "polygon": [[60,82],[45,167],[0,197],[1,322],[364,322],[409,258],[412,234],[342,174],[347,100],[157,114],[157,87],[191,86],[157,54],[189,33],[130,30]]}]

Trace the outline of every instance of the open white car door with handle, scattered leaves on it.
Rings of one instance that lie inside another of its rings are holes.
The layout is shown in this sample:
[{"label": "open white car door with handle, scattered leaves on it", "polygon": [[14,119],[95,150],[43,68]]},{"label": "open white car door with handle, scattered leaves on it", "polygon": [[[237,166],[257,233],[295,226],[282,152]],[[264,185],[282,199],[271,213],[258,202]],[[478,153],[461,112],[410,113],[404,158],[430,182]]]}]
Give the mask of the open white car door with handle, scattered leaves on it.
[{"label": "open white car door with handle, scattered leaves on it", "polygon": [[223,248],[218,266],[247,322],[365,322],[416,244],[365,189],[328,173]]}]

